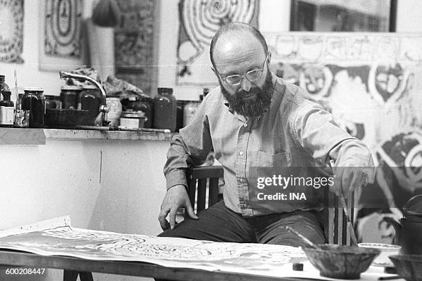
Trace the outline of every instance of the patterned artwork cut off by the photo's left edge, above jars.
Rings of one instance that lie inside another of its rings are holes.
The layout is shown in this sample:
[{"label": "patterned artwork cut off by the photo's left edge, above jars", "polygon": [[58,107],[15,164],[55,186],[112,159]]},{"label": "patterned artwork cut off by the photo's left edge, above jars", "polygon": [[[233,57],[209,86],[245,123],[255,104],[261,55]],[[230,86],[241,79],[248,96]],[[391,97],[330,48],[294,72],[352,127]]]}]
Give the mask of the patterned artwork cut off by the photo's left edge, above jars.
[{"label": "patterned artwork cut off by the photo's left edge, above jars", "polygon": [[23,63],[23,0],[0,1],[0,61]]}]

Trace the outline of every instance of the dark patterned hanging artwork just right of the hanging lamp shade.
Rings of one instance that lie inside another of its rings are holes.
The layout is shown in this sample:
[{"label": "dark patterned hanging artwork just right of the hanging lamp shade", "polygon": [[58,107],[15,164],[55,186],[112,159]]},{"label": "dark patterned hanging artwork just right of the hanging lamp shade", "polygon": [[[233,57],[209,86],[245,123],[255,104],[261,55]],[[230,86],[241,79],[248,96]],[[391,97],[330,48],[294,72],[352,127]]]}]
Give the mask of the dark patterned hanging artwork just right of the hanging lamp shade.
[{"label": "dark patterned hanging artwork just right of the hanging lamp shade", "polygon": [[115,75],[145,94],[157,88],[159,1],[119,0],[114,28]]}]

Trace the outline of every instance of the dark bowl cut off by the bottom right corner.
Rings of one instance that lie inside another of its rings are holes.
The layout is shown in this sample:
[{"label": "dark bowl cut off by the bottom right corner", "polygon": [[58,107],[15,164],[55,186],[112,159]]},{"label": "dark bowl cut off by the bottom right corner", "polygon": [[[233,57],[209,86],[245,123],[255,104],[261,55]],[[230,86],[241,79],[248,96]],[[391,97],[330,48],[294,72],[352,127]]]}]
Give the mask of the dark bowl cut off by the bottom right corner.
[{"label": "dark bowl cut off by the bottom right corner", "polygon": [[422,255],[393,255],[389,258],[401,278],[422,281]]}]

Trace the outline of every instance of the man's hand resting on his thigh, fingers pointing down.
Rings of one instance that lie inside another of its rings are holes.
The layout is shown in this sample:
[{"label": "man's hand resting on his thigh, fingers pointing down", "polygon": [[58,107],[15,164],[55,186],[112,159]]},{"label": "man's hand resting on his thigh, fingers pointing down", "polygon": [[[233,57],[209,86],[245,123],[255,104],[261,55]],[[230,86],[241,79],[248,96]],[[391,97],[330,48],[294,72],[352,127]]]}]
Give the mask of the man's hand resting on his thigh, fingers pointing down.
[{"label": "man's hand resting on his thigh, fingers pointing down", "polygon": [[[167,230],[169,227],[170,229],[174,229],[174,225],[176,225],[176,213],[181,207],[185,207],[185,211],[188,212],[190,218],[198,220],[198,217],[194,213],[194,209],[190,204],[188,192],[186,192],[185,186],[174,185],[174,187],[170,187],[170,189],[167,190],[163,202],[161,203],[161,211],[159,215],[161,229]],[[170,222],[165,219],[169,213]]]}]

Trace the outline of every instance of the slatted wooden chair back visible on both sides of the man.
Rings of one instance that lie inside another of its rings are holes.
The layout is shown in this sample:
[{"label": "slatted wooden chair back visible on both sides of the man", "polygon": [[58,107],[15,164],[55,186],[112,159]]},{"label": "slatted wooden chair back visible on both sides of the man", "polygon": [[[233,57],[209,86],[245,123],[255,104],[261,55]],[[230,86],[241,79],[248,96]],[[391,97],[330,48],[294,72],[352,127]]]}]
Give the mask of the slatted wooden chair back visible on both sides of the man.
[{"label": "slatted wooden chair back visible on both sides of the man", "polygon": [[[223,177],[221,166],[200,166],[192,167],[186,171],[188,178],[188,195],[195,212],[202,211],[215,203],[219,197],[219,178]],[[347,220],[341,207],[341,202],[335,194],[325,191],[325,198],[328,198],[325,206],[324,235],[325,242],[330,244],[350,245],[351,238],[347,229]],[[348,206],[354,206],[354,193],[349,196]],[[353,207],[348,208],[349,216],[354,218]],[[186,218],[187,214],[185,214]]]}]

